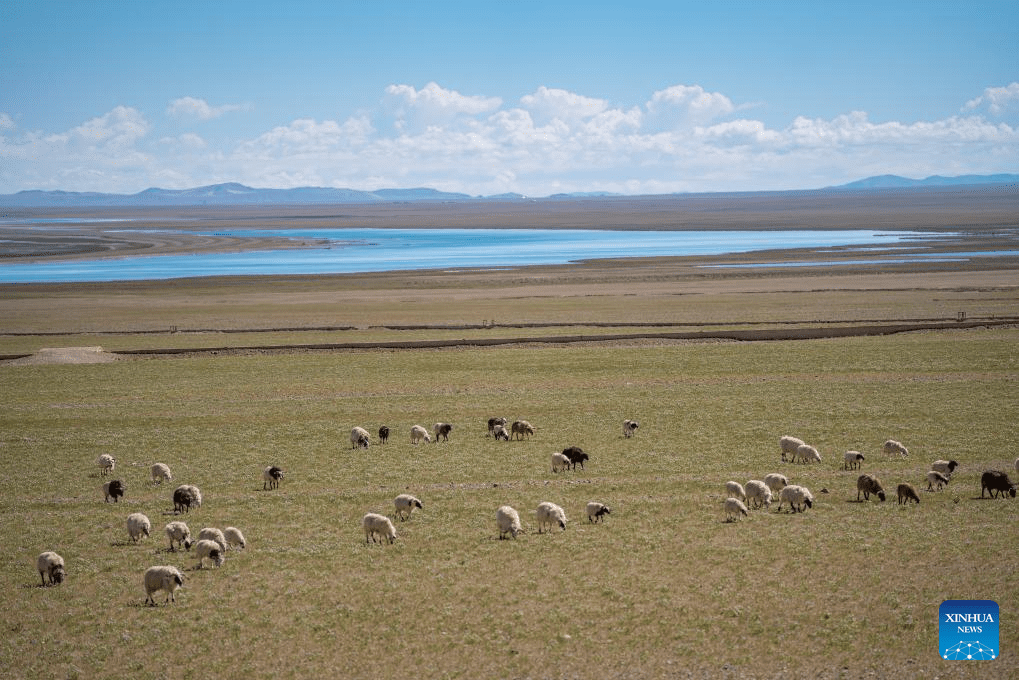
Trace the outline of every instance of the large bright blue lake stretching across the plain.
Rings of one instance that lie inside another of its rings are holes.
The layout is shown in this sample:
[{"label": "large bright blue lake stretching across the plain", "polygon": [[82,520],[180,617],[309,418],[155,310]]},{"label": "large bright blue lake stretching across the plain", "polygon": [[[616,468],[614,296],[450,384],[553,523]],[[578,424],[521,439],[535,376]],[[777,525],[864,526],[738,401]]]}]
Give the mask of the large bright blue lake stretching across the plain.
[{"label": "large bright blue lake stretching across the plain", "polygon": [[[110,231],[113,231],[111,229]],[[129,231],[117,227],[116,231]],[[0,264],[0,282],[71,282],[194,276],[329,274],[408,269],[498,269],[620,257],[721,255],[770,249],[894,246],[910,231],[601,229],[226,230],[229,237],[285,237],[328,246],[293,250]],[[2,236],[2,234],[0,234]],[[915,245],[915,244],[914,244]]]}]

